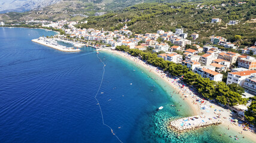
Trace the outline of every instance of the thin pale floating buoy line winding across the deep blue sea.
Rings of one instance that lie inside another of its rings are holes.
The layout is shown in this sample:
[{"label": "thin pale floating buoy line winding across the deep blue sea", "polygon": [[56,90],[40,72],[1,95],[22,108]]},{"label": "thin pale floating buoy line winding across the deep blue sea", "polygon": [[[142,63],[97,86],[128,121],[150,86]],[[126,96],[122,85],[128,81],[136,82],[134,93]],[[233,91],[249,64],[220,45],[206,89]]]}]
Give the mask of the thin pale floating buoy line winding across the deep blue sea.
[{"label": "thin pale floating buoy line winding across the deep blue sea", "polygon": [[[103,121],[103,125],[104,125],[104,126],[107,126],[107,127],[111,130],[111,132],[113,133],[113,135],[116,136],[116,138],[118,139],[118,141],[122,142],[121,139],[118,138],[118,136],[116,135],[116,133],[114,132],[114,130],[113,130],[109,125],[107,125],[106,123],[104,123],[103,111],[101,110],[101,104],[100,104],[100,102],[99,102],[98,99],[97,99],[97,95],[98,95],[98,93],[100,92],[101,85],[102,85],[102,83],[103,83],[106,64],[101,60],[101,58],[98,56],[98,54],[97,54],[97,57],[100,59],[101,63],[103,63],[104,66],[103,66],[103,76],[101,77],[101,83],[100,83],[100,86],[99,86],[98,91],[97,91],[97,93],[96,93],[96,95],[95,95],[94,98],[95,98],[95,100],[98,102],[97,105],[99,105],[99,107],[100,107],[101,119],[102,119],[102,121]],[[122,143],[123,143],[123,142],[122,142]]]}]

